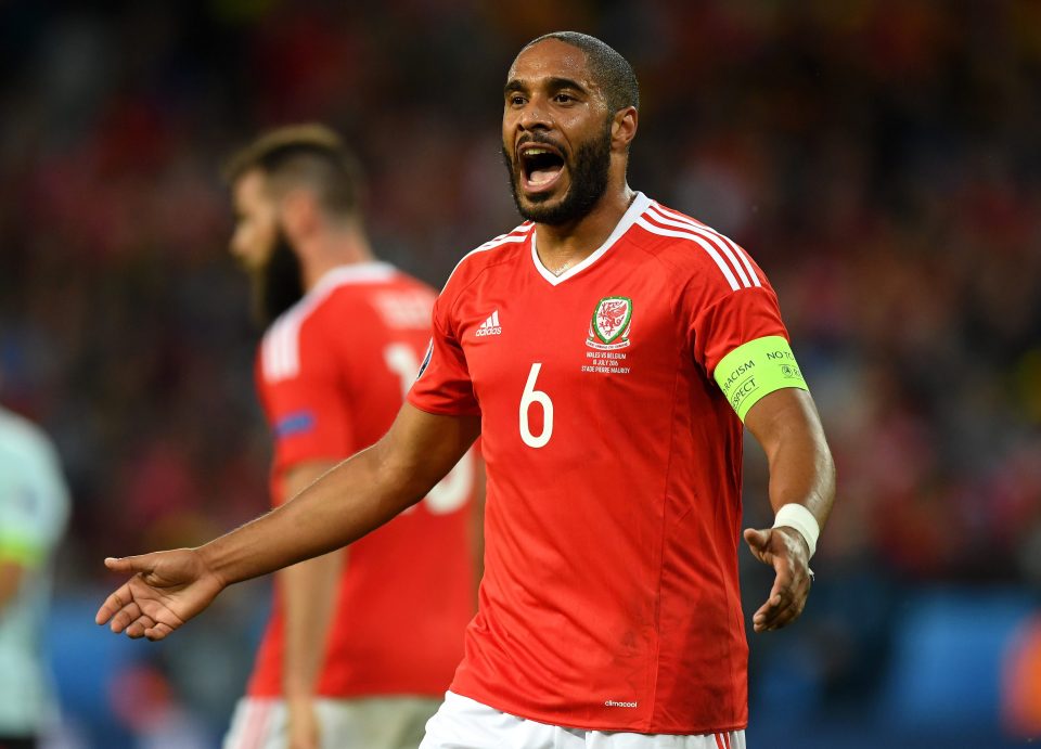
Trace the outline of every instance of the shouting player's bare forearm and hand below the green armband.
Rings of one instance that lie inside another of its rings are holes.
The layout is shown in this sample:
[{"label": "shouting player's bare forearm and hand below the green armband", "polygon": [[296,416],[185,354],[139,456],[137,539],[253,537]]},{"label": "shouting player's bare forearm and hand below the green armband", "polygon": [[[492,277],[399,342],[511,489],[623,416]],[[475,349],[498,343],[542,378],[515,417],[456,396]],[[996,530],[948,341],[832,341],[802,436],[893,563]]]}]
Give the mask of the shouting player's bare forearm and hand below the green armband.
[{"label": "shouting player's bare forearm and hand below the green armband", "polygon": [[[771,392],[751,406],[745,426],[767,453],[774,513],[786,504],[802,505],[823,528],[835,501],[835,465],[810,393],[796,388]],[[780,629],[806,606],[809,545],[798,530],[783,525],[748,528],[744,535],[756,558],[776,572],[770,597],[753,616],[753,627],[756,632]]]}]

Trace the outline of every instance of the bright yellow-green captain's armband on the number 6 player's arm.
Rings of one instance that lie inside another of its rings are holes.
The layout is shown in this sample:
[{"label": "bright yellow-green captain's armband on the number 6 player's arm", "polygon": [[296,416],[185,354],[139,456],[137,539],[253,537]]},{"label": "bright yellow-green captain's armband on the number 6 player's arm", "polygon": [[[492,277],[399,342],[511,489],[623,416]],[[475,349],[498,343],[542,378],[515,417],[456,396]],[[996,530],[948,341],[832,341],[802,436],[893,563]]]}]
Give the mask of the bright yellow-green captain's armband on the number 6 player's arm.
[{"label": "bright yellow-green captain's armband on the number 6 player's arm", "polygon": [[735,348],[716,366],[716,382],[742,422],[748,409],[774,390],[810,389],[792,347],[781,336],[756,338]]}]

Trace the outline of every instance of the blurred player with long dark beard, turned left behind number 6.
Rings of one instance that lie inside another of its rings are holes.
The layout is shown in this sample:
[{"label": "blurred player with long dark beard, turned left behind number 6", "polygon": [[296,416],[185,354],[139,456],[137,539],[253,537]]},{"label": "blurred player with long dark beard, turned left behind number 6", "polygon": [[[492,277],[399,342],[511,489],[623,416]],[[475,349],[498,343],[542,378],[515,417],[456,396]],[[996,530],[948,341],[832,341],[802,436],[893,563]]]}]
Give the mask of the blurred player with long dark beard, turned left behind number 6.
[{"label": "blurred player with long dark beard, turned left behind number 6", "polygon": [[[373,256],[358,168],[326,128],[262,134],[226,178],[231,251],[267,326],[256,379],[279,505],[387,430],[419,371],[435,295]],[[411,512],[279,573],[228,749],[415,747],[475,609],[477,470],[463,455]]]}]

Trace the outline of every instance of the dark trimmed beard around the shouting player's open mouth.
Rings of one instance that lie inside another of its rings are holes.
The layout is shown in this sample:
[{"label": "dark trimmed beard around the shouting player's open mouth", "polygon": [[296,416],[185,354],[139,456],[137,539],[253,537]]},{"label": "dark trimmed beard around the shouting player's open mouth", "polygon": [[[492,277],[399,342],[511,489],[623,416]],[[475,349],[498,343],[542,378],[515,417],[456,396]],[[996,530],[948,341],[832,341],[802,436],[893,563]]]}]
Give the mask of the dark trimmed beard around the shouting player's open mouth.
[{"label": "dark trimmed beard around the shouting player's open mouth", "polygon": [[[544,139],[532,139],[536,143],[549,142]],[[555,145],[555,144],[554,144]],[[510,192],[517,206],[517,212],[526,221],[560,227],[565,223],[584,218],[595,207],[596,203],[607,191],[607,177],[611,170],[611,120],[600,138],[587,141],[578,146],[574,164],[570,165],[571,184],[562,199],[555,206],[540,205],[550,199],[549,195],[526,196],[527,205],[522,203],[518,194],[520,182],[519,164],[516,164],[505,147],[502,158],[510,172]]]}]

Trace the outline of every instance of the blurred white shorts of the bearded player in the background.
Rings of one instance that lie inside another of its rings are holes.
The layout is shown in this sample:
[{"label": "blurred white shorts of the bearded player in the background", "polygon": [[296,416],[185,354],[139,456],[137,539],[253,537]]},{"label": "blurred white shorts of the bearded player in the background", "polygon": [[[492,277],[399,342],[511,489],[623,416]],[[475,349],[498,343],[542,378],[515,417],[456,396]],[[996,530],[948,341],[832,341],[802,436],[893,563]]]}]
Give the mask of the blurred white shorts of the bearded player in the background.
[{"label": "blurred white shorts of the bearded player in the background", "polygon": [[[322,749],[415,749],[439,699],[365,697],[314,700]],[[244,697],[235,706],[223,749],[285,749],[288,711],[281,699]]]}]

